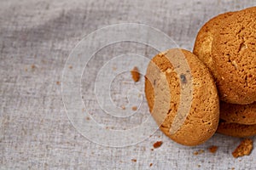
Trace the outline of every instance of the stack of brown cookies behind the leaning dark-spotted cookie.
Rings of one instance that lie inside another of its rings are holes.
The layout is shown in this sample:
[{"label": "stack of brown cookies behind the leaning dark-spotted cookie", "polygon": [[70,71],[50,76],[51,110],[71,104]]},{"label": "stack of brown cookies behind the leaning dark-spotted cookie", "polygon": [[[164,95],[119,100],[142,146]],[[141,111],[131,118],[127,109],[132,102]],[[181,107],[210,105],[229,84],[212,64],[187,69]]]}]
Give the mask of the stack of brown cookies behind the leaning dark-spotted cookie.
[{"label": "stack of brown cookies behind the leaning dark-spotted cookie", "polygon": [[193,53],[218,88],[218,133],[256,135],[256,7],[219,14],[201,27]]}]

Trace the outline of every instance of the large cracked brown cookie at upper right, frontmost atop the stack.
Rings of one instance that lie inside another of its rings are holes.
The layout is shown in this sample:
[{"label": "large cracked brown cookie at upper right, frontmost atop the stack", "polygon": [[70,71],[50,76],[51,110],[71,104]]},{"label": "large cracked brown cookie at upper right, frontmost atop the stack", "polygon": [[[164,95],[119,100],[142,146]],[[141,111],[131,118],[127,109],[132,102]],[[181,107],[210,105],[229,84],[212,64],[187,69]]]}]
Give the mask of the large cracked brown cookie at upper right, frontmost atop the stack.
[{"label": "large cracked brown cookie at upper right, frontmost atop the stack", "polygon": [[232,14],[218,26],[212,60],[221,100],[233,104],[256,101],[256,7]]}]

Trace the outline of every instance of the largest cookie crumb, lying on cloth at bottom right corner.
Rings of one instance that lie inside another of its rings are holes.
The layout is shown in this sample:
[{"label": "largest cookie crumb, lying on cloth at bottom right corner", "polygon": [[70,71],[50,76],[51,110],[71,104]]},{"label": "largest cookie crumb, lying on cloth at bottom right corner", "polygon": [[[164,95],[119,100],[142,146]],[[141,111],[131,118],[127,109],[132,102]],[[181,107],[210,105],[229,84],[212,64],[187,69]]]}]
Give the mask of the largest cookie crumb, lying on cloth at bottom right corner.
[{"label": "largest cookie crumb, lying on cloth at bottom right corner", "polygon": [[253,150],[253,140],[252,139],[244,139],[241,143],[236,147],[236,150],[232,152],[234,157],[239,156],[248,156]]}]

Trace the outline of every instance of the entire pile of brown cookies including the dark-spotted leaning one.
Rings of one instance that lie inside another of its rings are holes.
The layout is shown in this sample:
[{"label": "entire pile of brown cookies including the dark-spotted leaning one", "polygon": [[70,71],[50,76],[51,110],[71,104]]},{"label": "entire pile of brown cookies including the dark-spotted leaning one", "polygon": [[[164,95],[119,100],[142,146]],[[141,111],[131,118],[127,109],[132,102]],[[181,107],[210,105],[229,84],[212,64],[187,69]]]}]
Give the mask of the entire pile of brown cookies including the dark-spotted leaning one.
[{"label": "entire pile of brown cookies including the dark-spotted leaning one", "polygon": [[[189,69],[172,65],[178,57]],[[256,7],[209,20],[193,53],[157,54],[148,64],[145,94],[160,129],[179,144],[201,144],[215,132],[256,135]]]}]

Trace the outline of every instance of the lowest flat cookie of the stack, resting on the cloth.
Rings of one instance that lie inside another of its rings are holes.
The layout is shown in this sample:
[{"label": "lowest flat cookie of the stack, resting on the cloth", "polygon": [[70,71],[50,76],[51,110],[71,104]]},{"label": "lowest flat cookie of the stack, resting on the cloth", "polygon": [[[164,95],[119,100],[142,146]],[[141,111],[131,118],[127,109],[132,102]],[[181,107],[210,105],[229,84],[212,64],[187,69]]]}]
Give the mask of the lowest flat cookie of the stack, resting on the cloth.
[{"label": "lowest flat cookie of the stack, resting on the cloth", "polygon": [[256,135],[256,124],[242,125],[234,122],[219,122],[217,133],[233,137],[246,138]]}]

